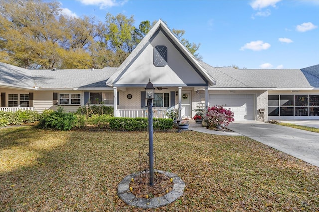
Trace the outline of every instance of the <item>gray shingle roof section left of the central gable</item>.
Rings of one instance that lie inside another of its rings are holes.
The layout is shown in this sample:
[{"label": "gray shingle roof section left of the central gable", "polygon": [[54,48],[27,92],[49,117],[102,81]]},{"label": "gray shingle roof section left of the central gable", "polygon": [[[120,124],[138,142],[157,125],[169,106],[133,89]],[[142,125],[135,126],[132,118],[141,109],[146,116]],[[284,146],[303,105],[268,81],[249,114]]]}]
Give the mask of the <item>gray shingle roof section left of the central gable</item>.
[{"label": "gray shingle roof section left of the central gable", "polygon": [[0,83],[8,86],[42,89],[108,88],[105,82],[116,69],[28,70],[1,63]]}]

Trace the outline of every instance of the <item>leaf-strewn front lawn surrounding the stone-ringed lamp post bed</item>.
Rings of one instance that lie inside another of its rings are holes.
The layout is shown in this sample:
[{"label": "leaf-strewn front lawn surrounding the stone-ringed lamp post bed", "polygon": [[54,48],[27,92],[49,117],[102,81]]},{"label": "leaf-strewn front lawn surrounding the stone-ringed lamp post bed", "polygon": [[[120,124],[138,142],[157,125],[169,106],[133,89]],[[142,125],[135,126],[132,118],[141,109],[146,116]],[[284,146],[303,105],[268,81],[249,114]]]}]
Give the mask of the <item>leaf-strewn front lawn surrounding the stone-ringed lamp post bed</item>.
[{"label": "leaf-strewn front lawn surrounding the stone-ringed lamp post bed", "polygon": [[[117,196],[147,132],[0,129],[0,211],[143,211]],[[186,183],[153,211],[318,211],[319,168],[247,137],[155,132],[157,169]]]}]

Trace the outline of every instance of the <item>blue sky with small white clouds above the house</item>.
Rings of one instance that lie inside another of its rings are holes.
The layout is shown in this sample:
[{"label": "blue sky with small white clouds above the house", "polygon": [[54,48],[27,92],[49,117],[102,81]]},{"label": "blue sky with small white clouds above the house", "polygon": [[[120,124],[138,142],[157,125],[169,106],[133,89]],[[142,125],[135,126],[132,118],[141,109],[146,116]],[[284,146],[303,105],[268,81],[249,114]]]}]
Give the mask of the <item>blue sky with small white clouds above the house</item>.
[{"label": "blue sky with small white clouds above the house", "polygon": [[211,66],[299,69],[319,64],[319,0],[59,0],[69,16],[121,13],[185,30]]}]

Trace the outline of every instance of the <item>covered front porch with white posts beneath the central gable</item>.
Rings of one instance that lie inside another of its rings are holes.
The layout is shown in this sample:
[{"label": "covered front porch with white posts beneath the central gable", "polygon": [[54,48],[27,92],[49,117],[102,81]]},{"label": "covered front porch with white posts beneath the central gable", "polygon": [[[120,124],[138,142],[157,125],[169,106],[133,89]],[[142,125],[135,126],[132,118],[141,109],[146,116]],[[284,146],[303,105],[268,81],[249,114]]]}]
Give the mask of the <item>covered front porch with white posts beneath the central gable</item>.
[{"label": "covered front porch with white posts beneath the central gable", "polygon": [[[146,86],[146,84],[145,84]],[[145,88],[117,88],[113,92],[114,117],[148,117]],[[167,111],[178,109],[178,119],[191,119],[201,106],[208,106],[209,94],[199,87],[166,87],[155,88],[153,99],[153,117],[167,118]]]}]

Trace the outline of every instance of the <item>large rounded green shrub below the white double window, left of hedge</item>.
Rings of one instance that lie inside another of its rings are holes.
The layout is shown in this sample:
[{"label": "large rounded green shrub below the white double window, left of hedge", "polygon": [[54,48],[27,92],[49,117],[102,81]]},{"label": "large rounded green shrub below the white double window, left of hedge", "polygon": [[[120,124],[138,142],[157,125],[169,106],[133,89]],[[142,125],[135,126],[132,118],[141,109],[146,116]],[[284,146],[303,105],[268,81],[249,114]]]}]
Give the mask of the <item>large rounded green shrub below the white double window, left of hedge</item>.
[{"label": "large rounded green shrub below the white double window, left of hedge", "polygon": [[59,107],[56,112],[48,113],[40,119],[39,128],[54,128],[65,131],[71,130],[78,124],[78,117],[72,112],[64,112],[62,107]]}]

